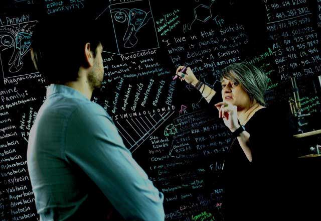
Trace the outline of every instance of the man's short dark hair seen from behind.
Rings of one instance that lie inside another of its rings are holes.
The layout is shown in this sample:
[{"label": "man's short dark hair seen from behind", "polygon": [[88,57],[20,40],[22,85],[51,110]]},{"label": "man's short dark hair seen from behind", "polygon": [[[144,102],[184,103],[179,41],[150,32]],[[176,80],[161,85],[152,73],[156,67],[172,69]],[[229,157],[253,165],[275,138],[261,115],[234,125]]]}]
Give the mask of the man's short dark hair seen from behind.
[{"label": "man's short dark hair seen from behind", "polygon": [[36,69],[47,82],[66,83],[78,78],[78,70],[85,66],[85,45],[96,55],[101,43],[96,21],[50,18],[37,23],[32,36]]}]

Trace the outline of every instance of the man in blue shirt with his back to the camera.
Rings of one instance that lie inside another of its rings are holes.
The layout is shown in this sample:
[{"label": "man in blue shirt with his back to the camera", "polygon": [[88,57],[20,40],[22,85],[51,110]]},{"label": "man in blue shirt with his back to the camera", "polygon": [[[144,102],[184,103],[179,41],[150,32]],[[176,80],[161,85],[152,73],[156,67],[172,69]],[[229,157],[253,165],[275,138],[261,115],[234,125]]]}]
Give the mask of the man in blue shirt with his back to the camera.
[{"label": "man in blue shirt with his back to the camera", "polygon": [[50,83],[27,154],[40,220],[164,220],[163,193],[90,101],[104,75],[98,31],[56,19],[33,35],[32,60]]}]

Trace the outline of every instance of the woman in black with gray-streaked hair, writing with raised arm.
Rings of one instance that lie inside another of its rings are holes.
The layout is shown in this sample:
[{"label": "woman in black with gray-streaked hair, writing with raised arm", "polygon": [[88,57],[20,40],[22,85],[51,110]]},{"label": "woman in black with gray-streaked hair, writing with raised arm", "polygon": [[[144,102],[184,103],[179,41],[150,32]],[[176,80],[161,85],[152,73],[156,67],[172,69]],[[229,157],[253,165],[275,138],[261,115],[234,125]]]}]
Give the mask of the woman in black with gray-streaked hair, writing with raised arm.
[{"label": "woman in black with gray-streaked hair, writing with raised arm", "polygon": [[217,108],[219,118],[232,133],[224,163],[225,220],[289,218],[284,206],[294,200],[288,198],[291,194],[286,184],[296,156],[295,151],[287,150],[292,147],[287,116],[280,109],[265,107],[265,73],[244,62],[225,67],[221,75],[223,101],[195,77],[191,68],[180,66],[176,75]]}]

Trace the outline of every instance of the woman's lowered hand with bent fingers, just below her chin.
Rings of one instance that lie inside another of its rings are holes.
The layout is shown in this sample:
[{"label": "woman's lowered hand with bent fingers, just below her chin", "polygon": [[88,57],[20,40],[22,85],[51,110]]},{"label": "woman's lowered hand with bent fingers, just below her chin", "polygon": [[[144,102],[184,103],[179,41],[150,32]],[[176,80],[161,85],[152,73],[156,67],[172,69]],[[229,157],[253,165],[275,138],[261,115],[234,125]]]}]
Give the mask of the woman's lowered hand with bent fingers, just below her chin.
[{"label": "woman's lowered hand with bent fingers, just below her chin", "polygon": [[219,118],[223,118],[224,124],[234,132],[240,127],[237,121],[237,106],[227,103],[219,102],[215,104],[216,108],[219,110]]}]

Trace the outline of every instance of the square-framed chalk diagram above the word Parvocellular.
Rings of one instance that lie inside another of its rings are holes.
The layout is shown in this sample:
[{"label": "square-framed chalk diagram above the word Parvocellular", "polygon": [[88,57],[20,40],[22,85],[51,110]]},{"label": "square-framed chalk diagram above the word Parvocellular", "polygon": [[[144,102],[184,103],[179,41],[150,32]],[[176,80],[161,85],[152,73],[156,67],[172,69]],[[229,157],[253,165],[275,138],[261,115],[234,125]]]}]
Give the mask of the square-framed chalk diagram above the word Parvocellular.
[{"label": "square-framed chalk diagram above the word Parvocellular", "polygon": [[110,19],[116,49],[112,52],[110,47],[106,47],[109,48],[106,52],[128,54],[159,47],[149,0],[110,5],[96,18],[103,21]]}]

